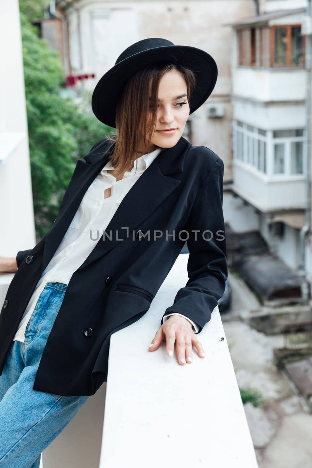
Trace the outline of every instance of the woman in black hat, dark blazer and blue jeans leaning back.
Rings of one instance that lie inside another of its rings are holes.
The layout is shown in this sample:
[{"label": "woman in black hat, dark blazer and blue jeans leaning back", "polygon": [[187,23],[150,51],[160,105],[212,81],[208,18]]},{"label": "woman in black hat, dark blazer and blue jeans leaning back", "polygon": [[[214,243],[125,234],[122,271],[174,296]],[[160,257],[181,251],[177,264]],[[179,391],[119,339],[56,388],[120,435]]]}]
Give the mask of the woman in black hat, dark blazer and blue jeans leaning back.
[{"label": "woman in black hat, dark blazer and blue jeans leaning back", "polygon": [[1,271],[17,270],[0,314],[0,468],[39,467],[106,380],[110,336],[147,312],[185,240],[189,281],[149,350],[166,340],[182,366],[193,345],[204,357],[196,333],[227,278],[224,164],[182,133],[216,80],[194,47],[150,38],[123,51],[92,97],[117,135],[77,162],[49,233],[0,257]]}]

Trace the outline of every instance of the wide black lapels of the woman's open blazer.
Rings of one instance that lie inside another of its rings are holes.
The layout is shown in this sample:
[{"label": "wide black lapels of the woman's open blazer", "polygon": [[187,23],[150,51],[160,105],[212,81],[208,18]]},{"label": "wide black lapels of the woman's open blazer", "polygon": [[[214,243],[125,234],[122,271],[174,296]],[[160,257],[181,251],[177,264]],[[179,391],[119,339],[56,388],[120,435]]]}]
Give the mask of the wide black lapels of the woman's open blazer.
[{"label": "wide black lapels of the woman's open blazer", "polygon": [[[114,144],[105,145],[104,150],[101,151],[99,147],[94,148],[84,157],[89,164],[81,160],[77,161],[71,183],[65,194],[68,202],[65,203],[63,211],[59,213],[45,238],[43,270],[62,241],[88,187],[108,162],[109,150]],[[99,241],[96,244],[94,241],[94,249],[78,270],[107,254],[128,235],[132,237],[132,231],[139,227],[181,183],[180,180],[169,175],[182,172],[184,155],[190,146],[189,141],[181,137],[176,145],[160,152],[123,197],[105,229],[106,235],[103,236],[101,235],[103,233],[99,232]]]}]

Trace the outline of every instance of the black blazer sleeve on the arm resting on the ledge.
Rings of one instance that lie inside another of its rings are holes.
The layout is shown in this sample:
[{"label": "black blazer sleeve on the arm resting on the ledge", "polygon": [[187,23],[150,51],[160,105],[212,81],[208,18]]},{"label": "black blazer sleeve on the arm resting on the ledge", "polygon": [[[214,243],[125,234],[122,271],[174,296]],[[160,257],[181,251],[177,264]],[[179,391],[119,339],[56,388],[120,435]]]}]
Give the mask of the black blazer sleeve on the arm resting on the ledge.
[{"label": "black blazer sleeve on the arm resting on the ledge", "polygon": [[196,322],[200,333],[223,296],[228,276],[223,175],[224,163],[218,157],[200,184],[185,227],[189,234],[189,280],[167,307],[161,325],[166,314],[177,312]]}]

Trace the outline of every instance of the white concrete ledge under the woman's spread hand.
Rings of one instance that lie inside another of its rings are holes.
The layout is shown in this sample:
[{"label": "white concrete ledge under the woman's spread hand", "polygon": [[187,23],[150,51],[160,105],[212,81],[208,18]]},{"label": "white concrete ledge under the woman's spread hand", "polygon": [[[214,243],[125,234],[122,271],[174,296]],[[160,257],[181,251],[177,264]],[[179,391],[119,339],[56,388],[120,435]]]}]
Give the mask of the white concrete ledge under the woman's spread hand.
[{"label": "white concrete ledge under the woman's spread hand", "polygon": [[206,358],[193,348],[193,363],[180,366],[165,341],[148,351],[188,279],[188,256],[147,314],[111,337],[100,468],[258,467],[218,306],[198,335]]}]

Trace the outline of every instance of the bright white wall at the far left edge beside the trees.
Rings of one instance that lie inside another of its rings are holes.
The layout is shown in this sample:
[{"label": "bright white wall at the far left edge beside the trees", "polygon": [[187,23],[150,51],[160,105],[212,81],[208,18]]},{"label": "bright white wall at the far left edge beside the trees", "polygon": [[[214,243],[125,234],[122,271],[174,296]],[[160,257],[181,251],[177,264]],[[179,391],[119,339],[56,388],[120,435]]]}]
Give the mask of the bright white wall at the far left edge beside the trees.
[{"label": "bright white wall at the far left edge beside the trees", "polygon": [[0,255],[15,256],[36,236],[18,0],[0,0],[0,12]]}]

